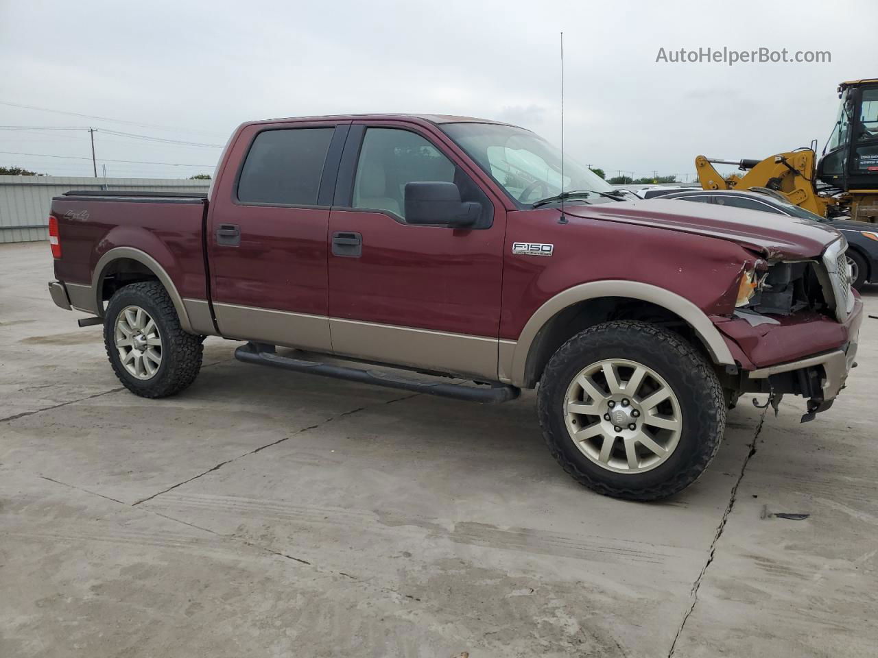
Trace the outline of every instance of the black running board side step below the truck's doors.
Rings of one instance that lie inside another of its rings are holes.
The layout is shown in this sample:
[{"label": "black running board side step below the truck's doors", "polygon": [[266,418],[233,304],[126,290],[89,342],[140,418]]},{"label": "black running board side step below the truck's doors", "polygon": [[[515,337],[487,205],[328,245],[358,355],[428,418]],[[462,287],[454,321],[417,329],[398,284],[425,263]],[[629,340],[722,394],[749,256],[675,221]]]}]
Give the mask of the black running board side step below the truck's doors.
[{"label": "black running board side step below the truck's doors", "polygon": [[495,383],[487,386],[464,386],[463,384],[428,382],[414,379],[397,373],[379,370],[361,370],[345,368],[319,361],[303,361],[288,356],[278,356],[273,345],[263,343],[247,343],[234,351],[234,358],[246,363],[257,363],[262,366],[284,368],[296,372],[311,373],[335,379],[347,379],[350,382],[369,383],[385,386],[389,389],[414,390],[428,395],[453,397],[467,402],[507,402],[518,397],[522,390],[515,386]]}]

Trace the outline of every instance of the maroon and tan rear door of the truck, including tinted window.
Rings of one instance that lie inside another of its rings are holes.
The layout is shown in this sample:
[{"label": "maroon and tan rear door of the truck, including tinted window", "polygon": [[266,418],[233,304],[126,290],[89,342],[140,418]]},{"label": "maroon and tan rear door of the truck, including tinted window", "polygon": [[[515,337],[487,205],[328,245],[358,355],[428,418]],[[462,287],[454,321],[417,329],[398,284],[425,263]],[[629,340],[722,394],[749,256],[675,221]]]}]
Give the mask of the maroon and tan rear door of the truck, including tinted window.
[{"label": "maroon and tan rear door of the truck, including tinted window", "polygon": [[331,351],[327,224],[348,128],[257,124],[235,140],[206,234],[223,336]]}]

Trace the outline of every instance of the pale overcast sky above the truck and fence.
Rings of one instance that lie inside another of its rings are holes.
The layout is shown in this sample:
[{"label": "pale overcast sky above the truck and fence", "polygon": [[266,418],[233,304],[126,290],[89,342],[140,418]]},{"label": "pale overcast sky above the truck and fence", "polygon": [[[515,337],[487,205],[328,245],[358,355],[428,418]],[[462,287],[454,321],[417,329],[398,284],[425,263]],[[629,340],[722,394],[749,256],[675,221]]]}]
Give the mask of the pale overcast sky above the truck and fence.
[{"label": "pale overcast sky above the truck and fence", "polygon": [[[795,10],[795,11],[794,11]],[[498,118],[608,175],[694,174],[831,132],[838,82],[878,75],[878,2],[98,3],[0,0],[0,125],[95,126],[222,145],[241,121],[336,112]],[[831,63],[673,64],[699,47],[831,51]],[[119,123],[29,105],[119,119]],[[97,132],[98,172],[211,172],[216,147]],[[89,133],[0,130],[0,164],[90,175]],[[128,161],[183,163],[186,167]]]}]

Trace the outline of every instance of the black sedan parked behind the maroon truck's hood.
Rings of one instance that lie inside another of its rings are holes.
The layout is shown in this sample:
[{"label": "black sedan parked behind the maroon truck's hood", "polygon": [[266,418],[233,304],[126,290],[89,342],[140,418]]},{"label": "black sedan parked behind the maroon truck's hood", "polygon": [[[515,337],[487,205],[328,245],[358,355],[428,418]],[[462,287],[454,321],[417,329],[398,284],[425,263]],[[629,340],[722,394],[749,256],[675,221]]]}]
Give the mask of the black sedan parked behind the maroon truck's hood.
[{"label": "black sedan parked behind the maroon truck's hood", "polygon": [[847,240],[847,262],[851,266],[853,287],[860,290],[866,282],[878,283],[878,225],[850,219],[827,219],[790,204],[771,190],[685,190],[666,194],[663,199],[683,199],[702,204],[729,205],[752,211],[774,212],[789,217],[812,219],[842,232]]}]

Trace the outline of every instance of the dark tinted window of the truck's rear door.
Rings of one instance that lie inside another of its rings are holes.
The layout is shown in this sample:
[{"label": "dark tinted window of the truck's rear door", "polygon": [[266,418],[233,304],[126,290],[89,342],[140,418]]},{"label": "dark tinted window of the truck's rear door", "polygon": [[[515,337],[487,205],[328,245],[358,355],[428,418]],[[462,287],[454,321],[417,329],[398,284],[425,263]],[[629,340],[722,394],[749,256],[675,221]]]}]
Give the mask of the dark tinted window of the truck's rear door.
[{"label": "dark tinted window of the truck's rear door", "polygon": [[266,130],[256,135],[241,169],[243,204],[316,205],[333,128]]}]

